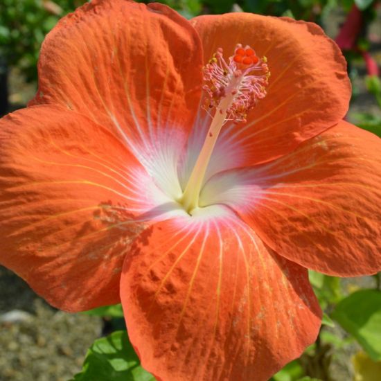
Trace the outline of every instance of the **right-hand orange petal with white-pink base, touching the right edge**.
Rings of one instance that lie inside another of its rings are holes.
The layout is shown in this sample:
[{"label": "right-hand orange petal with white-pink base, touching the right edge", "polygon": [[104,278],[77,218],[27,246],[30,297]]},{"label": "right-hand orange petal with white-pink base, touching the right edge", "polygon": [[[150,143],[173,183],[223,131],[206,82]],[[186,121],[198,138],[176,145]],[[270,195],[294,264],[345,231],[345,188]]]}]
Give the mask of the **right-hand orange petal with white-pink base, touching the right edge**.
[{"label": "right-hand orange petal with white-pink base, touching the right edge", "polygon": [[341,122],[272,163],[215,177],[204,200],[229,204],[299,265],[374,274],[381,270],[380,152],[377,136]]}]

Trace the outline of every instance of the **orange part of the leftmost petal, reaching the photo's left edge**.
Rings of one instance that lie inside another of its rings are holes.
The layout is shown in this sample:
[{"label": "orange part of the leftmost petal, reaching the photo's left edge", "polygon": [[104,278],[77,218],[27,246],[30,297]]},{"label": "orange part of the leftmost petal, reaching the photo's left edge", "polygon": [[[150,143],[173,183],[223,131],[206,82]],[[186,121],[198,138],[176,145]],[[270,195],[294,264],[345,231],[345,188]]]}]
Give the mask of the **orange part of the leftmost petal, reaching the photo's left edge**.
[{"label": "orange part of the leftmost petal, reaching the photo's left edge", "polygon": [[62,107],[0,121],[0,263],[68,311],[119,301],[141,190],[136,159],[109,130]]}]

